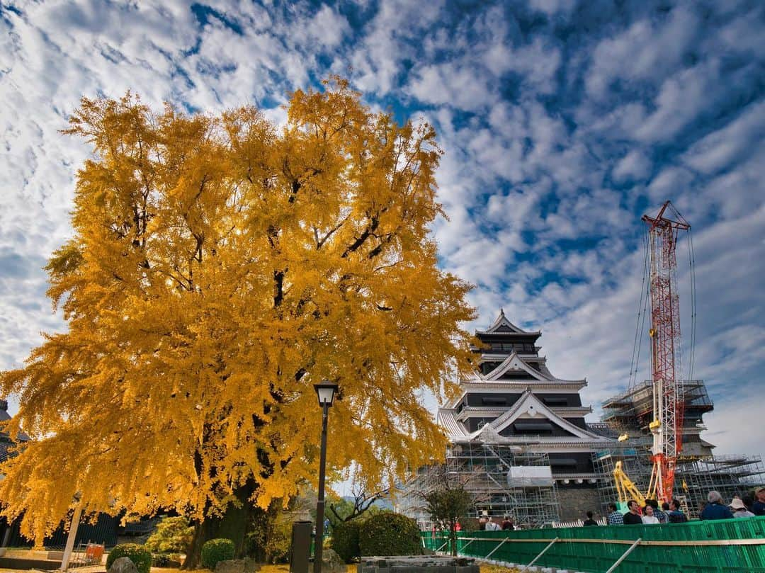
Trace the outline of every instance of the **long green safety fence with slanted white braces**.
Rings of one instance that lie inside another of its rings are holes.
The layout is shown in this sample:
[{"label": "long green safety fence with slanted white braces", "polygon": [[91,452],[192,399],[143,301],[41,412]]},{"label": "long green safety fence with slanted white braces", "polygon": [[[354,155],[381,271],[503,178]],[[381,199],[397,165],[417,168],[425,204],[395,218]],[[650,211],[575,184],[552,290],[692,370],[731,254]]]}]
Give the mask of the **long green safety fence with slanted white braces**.
[{"label": "long green safety fence with slanted white braces", "polygon": [[[444,532],[422,533],[423,545],[433,551],[448,552],[447,540]],[[765,516],[651,526],[459,532],[457,552],[583,573],[765,573]],[[620,558],[623,561],[614,568]]]}]

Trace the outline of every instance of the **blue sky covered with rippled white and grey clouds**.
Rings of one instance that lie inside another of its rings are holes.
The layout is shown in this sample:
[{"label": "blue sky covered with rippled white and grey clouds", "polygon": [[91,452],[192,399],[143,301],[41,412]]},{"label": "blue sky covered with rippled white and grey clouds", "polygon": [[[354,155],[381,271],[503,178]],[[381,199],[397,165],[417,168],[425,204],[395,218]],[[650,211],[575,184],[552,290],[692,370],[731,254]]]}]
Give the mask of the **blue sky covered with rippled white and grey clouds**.
[{"label": "blue sky covered with rippled white and grey clouds", "polygon": [[[435,235],[444,269],[477,285],[471,328],[500,307],[541,328],[552,372],[587,376],[596,408],[630,378],[640,216],[672,200],[693,227],[705,438],[765,454],[763,31],[756,0],[0,0],[0,369],[63,328],[41,267],[70,236],[88,149],[58,130],[81,96],[256,103],[279,121],[290,90],[340,73],[436,126]],[[681,243],[686,334],[689,269]]]}]

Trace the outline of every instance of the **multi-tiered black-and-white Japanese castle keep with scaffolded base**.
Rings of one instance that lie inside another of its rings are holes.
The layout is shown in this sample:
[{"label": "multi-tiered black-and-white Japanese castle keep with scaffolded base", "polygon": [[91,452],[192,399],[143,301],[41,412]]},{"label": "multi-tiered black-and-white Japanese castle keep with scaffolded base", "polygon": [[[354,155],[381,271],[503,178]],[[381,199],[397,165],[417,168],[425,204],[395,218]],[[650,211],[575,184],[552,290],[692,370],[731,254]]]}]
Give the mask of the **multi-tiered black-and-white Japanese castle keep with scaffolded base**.
[{"label": "multi-tiered black-and-white Japanese castle keep with scaffolded base", "polygon": [[[449,480],[474,494],[477,515],[538,527],[578,519],[600,506],[593,454],[615,444],[584,421],[591,412],[579,392],[586,379],[554,376],[540,355],[539,330],[522,330],[500,315],[477,330],[477,370],[438,410],[450,446]],[[436,487],[434,467],[420,468],[406,490]],[[427,523],[408,499],[401,510]]]}]

